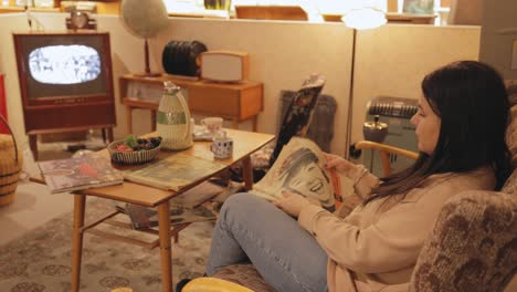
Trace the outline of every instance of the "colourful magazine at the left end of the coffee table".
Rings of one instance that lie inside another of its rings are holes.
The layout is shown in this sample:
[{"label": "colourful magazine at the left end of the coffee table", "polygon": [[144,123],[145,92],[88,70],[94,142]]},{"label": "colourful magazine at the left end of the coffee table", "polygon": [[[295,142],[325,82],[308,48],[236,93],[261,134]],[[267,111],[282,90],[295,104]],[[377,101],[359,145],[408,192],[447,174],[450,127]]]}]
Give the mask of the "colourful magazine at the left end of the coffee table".
[{"label": "colourful magazine at the left end of the coffee table", "polygon": [[38,163],[51,194],[118,185],[124,181],[120,171],[108,158],[84,155],[67,159]]}]

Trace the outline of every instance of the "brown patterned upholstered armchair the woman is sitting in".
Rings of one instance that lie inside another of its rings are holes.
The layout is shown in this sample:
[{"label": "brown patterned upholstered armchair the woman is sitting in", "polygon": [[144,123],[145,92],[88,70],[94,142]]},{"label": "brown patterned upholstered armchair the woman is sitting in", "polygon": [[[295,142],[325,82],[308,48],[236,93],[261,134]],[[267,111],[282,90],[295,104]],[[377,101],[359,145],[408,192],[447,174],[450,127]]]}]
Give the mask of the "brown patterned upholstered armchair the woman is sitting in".
[{"label": "brown patterned upholstered armchair the woman is sitting in", "polygon": [[[402,150],[382,144],[359,145],[386,153]],[[445,204],[420,252],[410,291],[517,291],[516,271],[517,170],[514,170],[502,191],[465,191]],[[226,267],[213,278],[256,292],[274,291],[252,264]],[[193,280],[183,291],[197,291],[196,286]]]}]

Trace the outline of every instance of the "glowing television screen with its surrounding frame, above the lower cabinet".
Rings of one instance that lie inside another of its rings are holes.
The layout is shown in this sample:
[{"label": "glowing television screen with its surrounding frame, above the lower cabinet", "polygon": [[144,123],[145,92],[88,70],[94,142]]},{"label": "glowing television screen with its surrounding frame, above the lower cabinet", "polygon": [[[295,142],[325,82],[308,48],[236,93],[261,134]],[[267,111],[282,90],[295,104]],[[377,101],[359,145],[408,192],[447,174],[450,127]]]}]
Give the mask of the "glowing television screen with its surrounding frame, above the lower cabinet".
[{"label": "glowing television screen with its surrounding frame, above the lower cabinet", "polygon": [[29,100],[106,94],[105,40],[98,34],[23,35]]}]

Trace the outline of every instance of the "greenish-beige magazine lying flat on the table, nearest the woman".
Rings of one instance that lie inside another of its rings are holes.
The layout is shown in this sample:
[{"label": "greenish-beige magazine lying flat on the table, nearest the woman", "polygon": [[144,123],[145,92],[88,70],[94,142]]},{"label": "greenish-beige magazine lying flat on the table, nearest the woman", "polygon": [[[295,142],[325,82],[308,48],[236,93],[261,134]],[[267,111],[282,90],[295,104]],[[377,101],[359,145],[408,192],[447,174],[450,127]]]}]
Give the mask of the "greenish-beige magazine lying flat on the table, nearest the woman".
[{"label": "greenish-beige magazine lying flat on the table, nearest the woman", "polygon": [[226,167],[218,161],[184,155],[170,155],[139,168],[123,170],[125,179],[156,188],[179,190]]}]

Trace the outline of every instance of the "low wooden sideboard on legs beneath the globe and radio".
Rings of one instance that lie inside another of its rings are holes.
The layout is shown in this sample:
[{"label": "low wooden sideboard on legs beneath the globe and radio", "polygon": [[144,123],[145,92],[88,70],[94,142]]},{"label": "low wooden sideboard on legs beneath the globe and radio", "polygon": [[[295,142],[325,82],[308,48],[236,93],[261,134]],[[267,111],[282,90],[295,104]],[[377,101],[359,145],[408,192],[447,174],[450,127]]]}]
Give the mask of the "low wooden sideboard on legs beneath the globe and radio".
[{"label": "low wooden sideboard on legs beneath the globe and radio", "polygon": [[[120,102],[127,108],[127,127],[133,132],[133,109],[151,111],[152,131],[156,127],[156,109],[163,82],[171,81],[184,90],[190,112],[204,116],[220,116],[232,121],[232,127],[251,119],[256,132],[256,118],[264,107],[264,86],[261,82],[214,83],[161,75],[143,77],[126,74],[119,79]],[[149,96],[154,95],[154,96]]]}]

